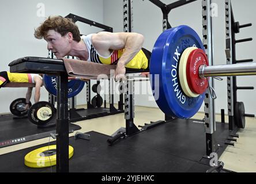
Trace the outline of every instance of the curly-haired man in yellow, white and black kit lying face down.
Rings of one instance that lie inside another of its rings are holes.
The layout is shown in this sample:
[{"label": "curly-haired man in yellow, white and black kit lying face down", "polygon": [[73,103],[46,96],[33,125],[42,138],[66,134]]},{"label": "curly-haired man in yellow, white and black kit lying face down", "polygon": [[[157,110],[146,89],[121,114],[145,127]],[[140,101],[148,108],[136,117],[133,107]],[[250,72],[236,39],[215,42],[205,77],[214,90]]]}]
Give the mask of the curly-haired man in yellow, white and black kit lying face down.
[{"label": "curly-haired man in yellow, white and black kit lying face down", "polygon": [[35,30],[36,39],[47,41],[47,49],[57,58],[75,56],[79,60],[116,65],[115,79],[125,80],[126,68],[149,69],[151,53],[142,48],[139,33],[99,32],[80,36],[78,26],[69,18],[48,17]]}]

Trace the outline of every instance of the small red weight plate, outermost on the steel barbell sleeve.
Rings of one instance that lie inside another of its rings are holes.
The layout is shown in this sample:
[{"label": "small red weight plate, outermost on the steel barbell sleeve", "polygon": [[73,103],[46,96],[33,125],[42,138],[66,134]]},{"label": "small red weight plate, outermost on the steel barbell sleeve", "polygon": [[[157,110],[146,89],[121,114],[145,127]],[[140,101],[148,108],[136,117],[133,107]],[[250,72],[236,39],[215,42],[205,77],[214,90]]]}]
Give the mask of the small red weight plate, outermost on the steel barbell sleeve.
[{"label": "small red weight plate, outermost on the steel barbell sleeve", "polygon": [[201,65],[209,66],[208,58],[202,49],[195,49],[187,59],[187,83],[190,90],[197,94],[203,94],[208,87],[206,78],[199,77],[199,67]]}]

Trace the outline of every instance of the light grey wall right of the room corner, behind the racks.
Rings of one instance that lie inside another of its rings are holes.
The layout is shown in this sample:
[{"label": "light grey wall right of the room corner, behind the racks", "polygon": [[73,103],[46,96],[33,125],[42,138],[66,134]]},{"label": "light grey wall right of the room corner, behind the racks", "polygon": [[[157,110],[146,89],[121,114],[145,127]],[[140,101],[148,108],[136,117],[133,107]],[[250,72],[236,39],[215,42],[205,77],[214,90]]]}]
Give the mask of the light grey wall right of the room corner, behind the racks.
[{"label": "light grey wall right of the room corner, behind the racks", "polygon": [[[162,1],[169,4],[175,1]],[[225,59],[225,9],[223,0],[214,0],[212,3],[217,4],[218,14],[213,17],[213,48],[214,48],[214,64],[226,64]],[[232,1],[235,21],[240,24],[253,23],[250,28],[240,30],[236,35],[237,39],[254,37],[255,33],[255,7],[256,2],[253,0]],[[202,7],[201,1],[195,1],[188,5],[174,9],[169,14],[169,22],[172,27],[178,25],[189,25],[193,28],[202,39]],[[216,12],[215,12],[216,13]],[[104,23],[114,28],[114,32],[123,31],[122,22],[122,1],[108,0],[104,1]],[[145,36],[144,47],[152,50],[155,40],[162,32],[162,13],[159,7],[147,0],[133,1],[133,25],[134,32],[142,33]],[[237,59],[255,59],[256,53],[253,52],[255,41],[237,44]],[[239,76],[239,86],[255,86],[255,76]],[[145,82],[146,83],[146,82]],[[148,84],[149,86],[149,84]],[[135,87],[137,89],[138,86]],[[225,109],[227,113],[227,81],[216,81],[215,89],[217,94],[216,113],[220,113],[220,109]],[[254,98],[255,90],[238,91],[238,101],[243,101],[246,108],[246,113],[254,113],[256,99]],[[135,104],[142,106],[157,106],[156,102],[148,101],[148,95],[135,95]],[[200,111],[204,111],[204,104]]]}]

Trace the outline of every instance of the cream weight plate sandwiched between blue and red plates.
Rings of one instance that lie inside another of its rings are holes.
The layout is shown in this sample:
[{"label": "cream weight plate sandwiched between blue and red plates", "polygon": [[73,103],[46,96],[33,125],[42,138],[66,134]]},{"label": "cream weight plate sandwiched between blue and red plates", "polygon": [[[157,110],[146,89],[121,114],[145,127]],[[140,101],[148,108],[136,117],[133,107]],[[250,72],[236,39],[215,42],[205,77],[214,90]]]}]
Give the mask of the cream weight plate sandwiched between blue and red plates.
[{"label": "cream weight plate sandwiched between blue and red plates", "polygon": [[182,87],[183,92],[188,97],[198,97],[199,94],[193,93],[193,91],[190,90],[189,83],[187,83],[187,59],[189,58],[190,53],[197,49],[197,47],[188,47],[183,51],[182,56],[180,57],[179,61],[179,82],[180,86]]}]

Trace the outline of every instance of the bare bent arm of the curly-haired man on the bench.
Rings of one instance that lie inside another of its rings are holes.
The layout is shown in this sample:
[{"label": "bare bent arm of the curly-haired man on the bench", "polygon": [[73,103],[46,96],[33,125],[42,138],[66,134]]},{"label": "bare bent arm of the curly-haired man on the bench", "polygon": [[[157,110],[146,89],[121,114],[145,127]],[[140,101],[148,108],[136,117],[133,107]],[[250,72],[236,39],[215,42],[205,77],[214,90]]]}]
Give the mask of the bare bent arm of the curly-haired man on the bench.
[{"label": "bare bent arm of the curly-haired man on the bench", "polygon": [[[140,51],[144,43],[144,36],[139,33],[110,33],[100,32],[93,34],[92,42],[95,49],[101,54],[111,53],[112,50],[125,49],[119,58],[115,75],[125,74],[125,65]],[[120,78],[123,78],[121,76]],[[119,79],[118,77],[116,79]]]}]

